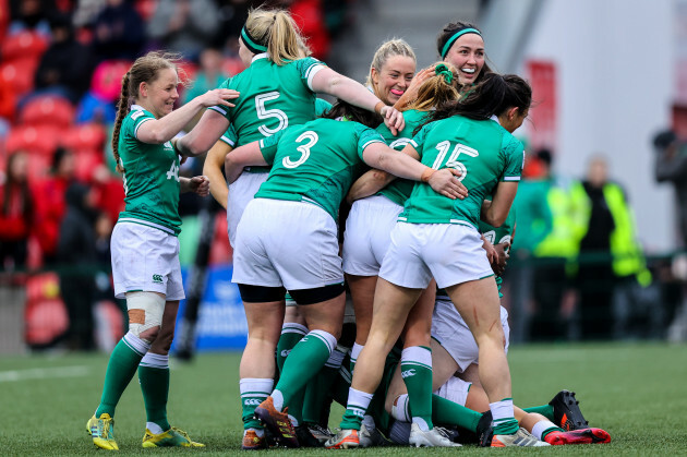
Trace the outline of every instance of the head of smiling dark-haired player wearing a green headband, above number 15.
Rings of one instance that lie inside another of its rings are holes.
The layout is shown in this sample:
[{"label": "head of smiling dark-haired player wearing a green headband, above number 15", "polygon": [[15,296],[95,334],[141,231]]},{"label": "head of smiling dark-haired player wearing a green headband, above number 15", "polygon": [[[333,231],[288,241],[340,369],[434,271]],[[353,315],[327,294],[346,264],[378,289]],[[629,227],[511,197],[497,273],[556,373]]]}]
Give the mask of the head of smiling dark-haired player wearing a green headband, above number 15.
[{"label": "head of smiling dark-haired player wearing a green headband, above number 15", "polygon": [[484,74],[492,71],[485,62],[482,33],[470,23],[446,24],[436,38],[436,50],[444,62],[458,69],[458,80],[462,85],[479,83]]}]

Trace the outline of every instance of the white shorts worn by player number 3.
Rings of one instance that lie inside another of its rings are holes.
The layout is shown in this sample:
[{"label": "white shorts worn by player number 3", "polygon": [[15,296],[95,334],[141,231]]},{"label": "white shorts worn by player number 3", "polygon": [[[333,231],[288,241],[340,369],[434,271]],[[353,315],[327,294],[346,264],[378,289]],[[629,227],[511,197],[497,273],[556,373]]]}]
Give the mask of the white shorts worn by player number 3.
[{"label": "white shorts worn by player number 3", "polygon": [[315,289],[343,282],[336,223],[308,202],[254,199],[233,252],[237,284]]}]

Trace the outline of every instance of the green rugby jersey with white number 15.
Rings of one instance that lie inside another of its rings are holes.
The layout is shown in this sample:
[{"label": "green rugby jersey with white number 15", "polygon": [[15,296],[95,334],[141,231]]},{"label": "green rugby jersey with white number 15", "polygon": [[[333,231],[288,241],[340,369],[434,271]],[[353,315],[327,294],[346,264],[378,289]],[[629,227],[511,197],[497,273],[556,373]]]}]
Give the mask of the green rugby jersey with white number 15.
[{"label": "green rugby jersey with white number 15", "polygon": [[426,124],[411,144],[427,167],[461,170],[459,179],[469,195],[465,200],[450,200],[429,184],[417,183],[398,218],[401,221],[462,224],[477,229],[482,201],[498,182],[520,180],[522,143],[494,120],[454,116]]}]

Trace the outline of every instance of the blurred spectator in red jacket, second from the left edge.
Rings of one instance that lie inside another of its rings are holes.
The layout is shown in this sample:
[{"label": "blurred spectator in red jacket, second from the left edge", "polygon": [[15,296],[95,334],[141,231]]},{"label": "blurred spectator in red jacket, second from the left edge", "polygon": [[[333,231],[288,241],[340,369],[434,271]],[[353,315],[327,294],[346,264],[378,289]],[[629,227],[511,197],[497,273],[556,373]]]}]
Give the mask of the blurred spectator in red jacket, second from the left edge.
[{"label": "blurred spectator in red jacket, second from the left edge", "polygon": [[60,224],[67,209],[64,194],[75,173],[74,154],[58,147],[52,156],[51,176],[38,182],[34,192],[34,232],[46,266],[57,262]]}]

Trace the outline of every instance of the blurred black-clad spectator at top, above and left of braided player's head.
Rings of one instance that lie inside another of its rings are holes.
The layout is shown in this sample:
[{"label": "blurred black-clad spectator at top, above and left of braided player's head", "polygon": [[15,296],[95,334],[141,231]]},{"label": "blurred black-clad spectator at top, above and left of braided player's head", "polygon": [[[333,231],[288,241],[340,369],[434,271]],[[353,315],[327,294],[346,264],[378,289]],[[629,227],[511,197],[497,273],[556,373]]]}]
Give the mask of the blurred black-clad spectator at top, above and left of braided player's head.
[{"label": "blurred black-clad spectator at top, above and left of braided player's head", "polygon": [[145,44],[145,23],[130,0],[107,0],[93,28],[93,48],[100,60],[134,60]]}]

